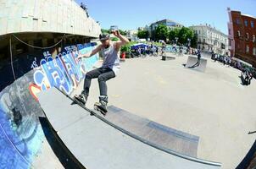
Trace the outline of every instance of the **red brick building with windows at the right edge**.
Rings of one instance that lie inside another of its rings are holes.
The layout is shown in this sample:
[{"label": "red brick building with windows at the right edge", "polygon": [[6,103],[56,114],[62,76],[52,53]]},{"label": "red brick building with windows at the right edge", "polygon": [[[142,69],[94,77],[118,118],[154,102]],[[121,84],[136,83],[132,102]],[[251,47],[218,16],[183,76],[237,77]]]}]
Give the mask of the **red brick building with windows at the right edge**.
[{"label": "red brick building with windows at the right edge", "polygon": [[256,17],[228,8],[228,38],[231,57],[237,57],[256,68]]}]

